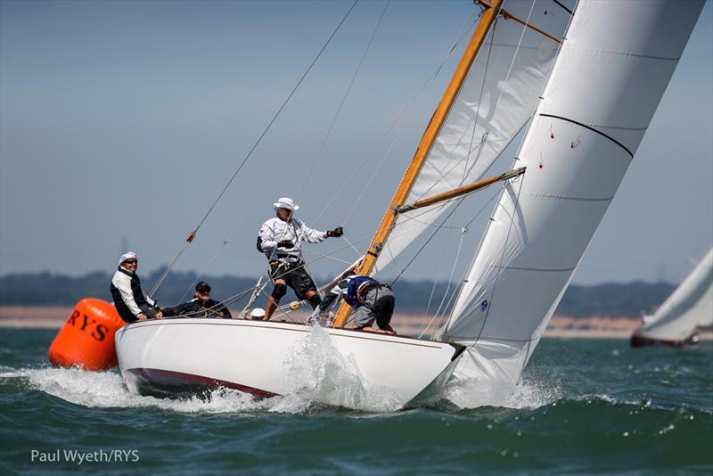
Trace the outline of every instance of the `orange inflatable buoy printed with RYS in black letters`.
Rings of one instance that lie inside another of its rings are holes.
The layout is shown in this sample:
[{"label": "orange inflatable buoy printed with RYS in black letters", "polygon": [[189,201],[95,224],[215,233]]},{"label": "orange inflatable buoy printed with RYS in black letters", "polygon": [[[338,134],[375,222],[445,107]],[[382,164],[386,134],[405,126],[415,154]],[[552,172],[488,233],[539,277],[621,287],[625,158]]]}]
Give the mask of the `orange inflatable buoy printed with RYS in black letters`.
[{"label": "orange inflatable buoy printed with RYS in black letters", "polygon": [[113,304],[105,300],[80,300],[57,332],[47,357],[53,365],[106,370],[117,365],[114,333],[126,325]]}]

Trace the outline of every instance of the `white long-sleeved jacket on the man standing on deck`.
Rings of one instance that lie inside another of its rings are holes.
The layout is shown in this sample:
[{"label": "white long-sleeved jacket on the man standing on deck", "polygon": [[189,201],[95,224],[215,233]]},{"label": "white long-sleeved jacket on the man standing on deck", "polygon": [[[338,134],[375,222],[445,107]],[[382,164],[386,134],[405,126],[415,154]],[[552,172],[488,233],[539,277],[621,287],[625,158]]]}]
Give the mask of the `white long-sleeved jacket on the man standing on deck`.
[{"label": "white long-sleeved jacket on the man standing on deck", "polygon": [[[313,230],[297,218],[283,221],[278,217],[270,218],[260,226],[258,248],[270,261],[294,262],[302,259],[302,242],[319,243],[327,239],[327,232]],[[278,247],[284,240],[292,242],[294,247]]]}]

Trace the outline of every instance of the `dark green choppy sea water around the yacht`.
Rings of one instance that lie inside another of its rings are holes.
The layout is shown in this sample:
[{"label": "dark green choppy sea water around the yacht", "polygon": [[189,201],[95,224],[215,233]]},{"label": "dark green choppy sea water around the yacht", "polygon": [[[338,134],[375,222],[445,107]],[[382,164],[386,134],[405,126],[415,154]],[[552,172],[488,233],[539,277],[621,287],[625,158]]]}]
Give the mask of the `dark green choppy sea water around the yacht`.
[{"label": "dark green choppy sea water around the yacht", "polygon": [[496,406],[355,411],[311,399],[368,398],[320,383],[333,372],[324,358],[292,369],[299,391],[288,397],[170,400],[128,393],[116,371],[47,365],[54,334],[0,329],[3,474],[713,473],[710,343],[545,339]]}]

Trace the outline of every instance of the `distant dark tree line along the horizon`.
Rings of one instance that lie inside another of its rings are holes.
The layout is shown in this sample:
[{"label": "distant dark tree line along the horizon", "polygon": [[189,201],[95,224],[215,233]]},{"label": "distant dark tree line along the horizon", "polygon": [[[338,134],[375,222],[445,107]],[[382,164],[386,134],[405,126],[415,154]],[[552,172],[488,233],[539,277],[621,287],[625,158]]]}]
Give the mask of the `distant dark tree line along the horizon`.
[{"label": "distant dark tree line along the horizon", "polygon": [[[160,279],[160,271],[142,275],[143,290],[149,292]],[[198,279],[193,272],[174,272],[161,285],[156,297],[160,306],[172,306],[193,297],[193,284]],[[0,276],[0,305],[2,306],[73,306],[86,297],[111,301],[109,284],[111,274],[95,272],[84,276],[36,273]],[[217,300],[233,299],[231,308],[242,308],[249,299],[250,288],[257,278],[231,275],[203,276],[213,288]],[[272,288],[268,285],[266,293]],[[555,314],[565,316],[639,316],[651,312],[674,290],[669,283],[606,283],[594,286],[570,285]],[[397,310],[402,313],[435,313],[438,308],[453,305],[455,287],[446,283],[426,281],[398,281],[394,285]],[[266,293],[258,299],[265,305]],[[239,299],[236,297],[243,294]],[[295,299],[288,294],[288,299]],[[283,303],[289,302],[283,300]]]}]

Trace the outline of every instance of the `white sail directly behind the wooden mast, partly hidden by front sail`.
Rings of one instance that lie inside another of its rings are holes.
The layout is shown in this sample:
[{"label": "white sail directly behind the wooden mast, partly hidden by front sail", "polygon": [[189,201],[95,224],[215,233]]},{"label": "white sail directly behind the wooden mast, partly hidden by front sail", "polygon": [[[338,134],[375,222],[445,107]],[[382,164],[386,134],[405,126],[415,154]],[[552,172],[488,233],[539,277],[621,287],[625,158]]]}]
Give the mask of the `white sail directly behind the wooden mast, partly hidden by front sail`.
[{"label": "white sail directly behind the wooden mast, partly hidden by front sail", "polygon": [[[572,0],[561,3],[574,4]],[[554,37],[561,37],[570,21],[570,12],[553,0],[505,0],[503,8]],[[558,49],[552,39],[516,21],[498,18],[406,203],[471,184],[483,176],[535,111]],[[446,203],[399,216],[375,272],[387,267],[450,206]]]}]

